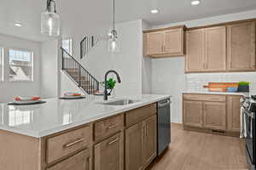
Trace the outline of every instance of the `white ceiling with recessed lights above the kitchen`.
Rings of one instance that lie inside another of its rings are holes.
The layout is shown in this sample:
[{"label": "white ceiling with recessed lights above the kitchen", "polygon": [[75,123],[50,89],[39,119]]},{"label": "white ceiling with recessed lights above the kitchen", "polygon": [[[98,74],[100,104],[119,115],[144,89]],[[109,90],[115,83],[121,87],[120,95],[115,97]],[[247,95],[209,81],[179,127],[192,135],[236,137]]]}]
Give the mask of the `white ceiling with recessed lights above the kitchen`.
[{"label": "white ceiling with recessed lights above the kitchen", "polygon": [[[155,1],[159,14],[150,14]],[[40,14],[46,0],[1,0],[0,33],[24,37],[34,41],[46,41],[40,35]],[[119,22],[144,19],[148,24],[162,25],[184,20],[230,14],[256,9],[256,0],[201,0],[199,6],[190,5],[190,0],[116,0]],[[57,0],[61,14],[62,30],[81,27],[84,31],[111,22],[112,0]],[[15,22],[24,26],[16,27]]]}]

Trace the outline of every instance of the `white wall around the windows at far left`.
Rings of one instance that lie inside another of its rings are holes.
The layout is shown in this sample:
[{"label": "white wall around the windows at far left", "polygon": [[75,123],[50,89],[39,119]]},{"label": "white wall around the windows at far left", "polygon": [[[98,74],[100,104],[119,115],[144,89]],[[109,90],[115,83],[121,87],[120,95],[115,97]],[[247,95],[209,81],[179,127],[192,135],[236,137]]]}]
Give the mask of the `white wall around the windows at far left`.
[{"label": "white wall around the windows at far left", "polygon": [[[0,34],[0,47],[4,51],[4,82],[0,82],[0,102],[13,101],[17,95],[32,96],[40,95],[40,43],[25,39],[10,37]],[[8,48],[18,48],[33,52],[34,61],[34,81],[33,82],[9,82],[9,58]]]}]

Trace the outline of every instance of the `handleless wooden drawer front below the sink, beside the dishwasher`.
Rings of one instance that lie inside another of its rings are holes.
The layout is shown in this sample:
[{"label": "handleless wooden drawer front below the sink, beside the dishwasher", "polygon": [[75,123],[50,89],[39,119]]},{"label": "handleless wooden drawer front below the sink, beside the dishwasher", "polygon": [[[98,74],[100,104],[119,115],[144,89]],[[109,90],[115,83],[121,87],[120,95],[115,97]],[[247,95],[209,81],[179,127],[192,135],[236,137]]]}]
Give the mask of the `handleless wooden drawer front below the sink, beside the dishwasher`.
[{"label": "handleless wooden drawer front below the sink, beside the dishwasher", "polygon": [[156,112],[156,104],[146,105],[132,111],[127,111],[125,113],[125,127],[131,127],[137,122],[142,122],[148,117],[154,116]]}]

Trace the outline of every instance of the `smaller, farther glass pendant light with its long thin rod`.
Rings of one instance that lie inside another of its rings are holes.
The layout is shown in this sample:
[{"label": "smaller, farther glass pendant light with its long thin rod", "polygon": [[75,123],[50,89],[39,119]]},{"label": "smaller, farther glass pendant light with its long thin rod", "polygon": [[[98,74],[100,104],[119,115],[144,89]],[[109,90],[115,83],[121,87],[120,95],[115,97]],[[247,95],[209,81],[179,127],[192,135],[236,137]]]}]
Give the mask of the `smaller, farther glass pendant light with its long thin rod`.
[{"label": "smaller, farther glass pendant light with its long thin rod", "polygon": [[109,32],[108,51],[111,53],[119,52],[119,38],[115,30],[115,0],[113,0],[113,30]]}]

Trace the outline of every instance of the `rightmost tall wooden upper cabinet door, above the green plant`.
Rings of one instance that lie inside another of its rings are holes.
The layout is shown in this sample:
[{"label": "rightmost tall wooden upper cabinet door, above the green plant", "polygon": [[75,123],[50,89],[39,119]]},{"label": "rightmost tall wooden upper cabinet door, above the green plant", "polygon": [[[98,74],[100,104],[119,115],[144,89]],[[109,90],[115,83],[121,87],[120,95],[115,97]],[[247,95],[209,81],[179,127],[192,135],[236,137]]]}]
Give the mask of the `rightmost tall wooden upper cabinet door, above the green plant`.
[{"label": "rightmost tall wooden upper cabinet door, above the green plant", "polygon": [[228,69],[255,70],[255,22],[228,26]]}]

